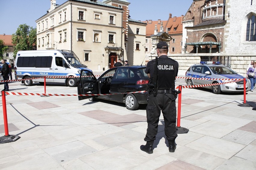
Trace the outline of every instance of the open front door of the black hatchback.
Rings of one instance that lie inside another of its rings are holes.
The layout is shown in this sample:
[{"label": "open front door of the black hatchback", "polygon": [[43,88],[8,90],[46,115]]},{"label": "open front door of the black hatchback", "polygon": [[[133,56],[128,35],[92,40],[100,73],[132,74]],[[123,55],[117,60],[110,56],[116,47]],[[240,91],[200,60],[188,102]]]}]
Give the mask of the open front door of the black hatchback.
[{"label": "open front door of the black hatchback", "polygon": [[77,92],[79,95],[89,95],[89,96],[78,96],[78,100],[84,100],[91,98],[92,94],[99,94],[97,88],[97,78],[92,72],[88,70],[81,70],[80,80],[78,81]]}]

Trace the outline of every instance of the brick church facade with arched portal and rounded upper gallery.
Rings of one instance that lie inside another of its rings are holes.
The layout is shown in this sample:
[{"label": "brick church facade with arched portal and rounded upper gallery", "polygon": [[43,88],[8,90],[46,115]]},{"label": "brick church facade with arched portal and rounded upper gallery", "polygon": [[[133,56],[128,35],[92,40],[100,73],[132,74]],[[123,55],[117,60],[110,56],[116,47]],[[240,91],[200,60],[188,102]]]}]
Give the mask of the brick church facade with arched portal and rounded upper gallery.
[{"label": "brick church facade with arched portal and rounded upper gallery", "polygon": [[225,0],[194,0],[183,19],[185,53],[222,52]]}]

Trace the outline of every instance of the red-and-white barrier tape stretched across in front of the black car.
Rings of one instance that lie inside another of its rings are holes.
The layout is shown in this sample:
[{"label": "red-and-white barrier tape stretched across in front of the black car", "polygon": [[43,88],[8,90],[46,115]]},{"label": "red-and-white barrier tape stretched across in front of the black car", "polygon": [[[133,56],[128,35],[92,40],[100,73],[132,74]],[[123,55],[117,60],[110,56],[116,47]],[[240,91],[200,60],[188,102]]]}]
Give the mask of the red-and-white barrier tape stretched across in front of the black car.
[{"label": "red-and-white barrier tape stretched across in front of the black car", "polygon": [[[144,91],[129,92],[129,93],[143,93]],[[128,94],[128,93],[112,93],[112,94],[91,94],[91,95],[69,95],[69,94],[44,94],[44,93],[20,93],[20,92],[5,92],[6,95],[44,95],[44,96],[97,96],[97,95],[117,95],[117,94]]]}]

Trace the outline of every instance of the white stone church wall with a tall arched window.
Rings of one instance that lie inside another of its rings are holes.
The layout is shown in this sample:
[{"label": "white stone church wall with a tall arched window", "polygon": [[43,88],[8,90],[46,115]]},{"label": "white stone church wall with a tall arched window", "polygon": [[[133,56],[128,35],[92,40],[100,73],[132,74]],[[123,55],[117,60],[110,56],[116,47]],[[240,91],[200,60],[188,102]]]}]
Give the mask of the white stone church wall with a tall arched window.
[{"label": "white stone church wall with a tall arched window", "polygon": [[256,1],[226,0],[226,11],[223,52],[255,52]]}]

